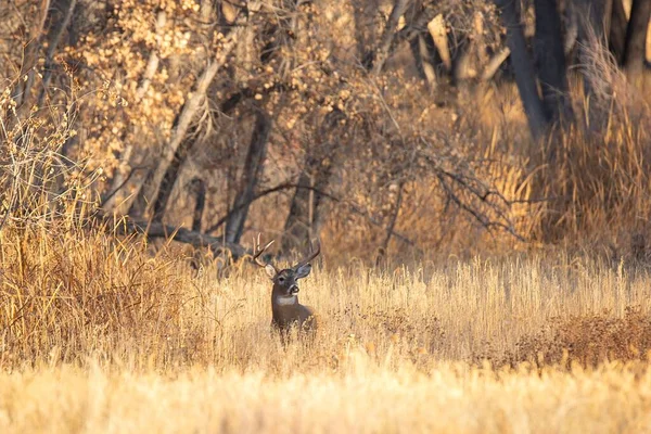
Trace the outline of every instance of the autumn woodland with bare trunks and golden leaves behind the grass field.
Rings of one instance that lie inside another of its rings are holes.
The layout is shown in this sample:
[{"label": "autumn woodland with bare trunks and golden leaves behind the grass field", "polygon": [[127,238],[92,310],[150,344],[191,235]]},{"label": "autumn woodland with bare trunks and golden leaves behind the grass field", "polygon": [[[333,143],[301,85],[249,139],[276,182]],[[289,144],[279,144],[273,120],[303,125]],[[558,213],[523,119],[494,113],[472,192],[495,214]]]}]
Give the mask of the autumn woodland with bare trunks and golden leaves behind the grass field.
[{"label": "autumn woodland with bare trunks and golden leaves behind the grass field", "polygon": [[3,2],[0,216],[74,197],[208,256],[646,255],[649,3]]}]

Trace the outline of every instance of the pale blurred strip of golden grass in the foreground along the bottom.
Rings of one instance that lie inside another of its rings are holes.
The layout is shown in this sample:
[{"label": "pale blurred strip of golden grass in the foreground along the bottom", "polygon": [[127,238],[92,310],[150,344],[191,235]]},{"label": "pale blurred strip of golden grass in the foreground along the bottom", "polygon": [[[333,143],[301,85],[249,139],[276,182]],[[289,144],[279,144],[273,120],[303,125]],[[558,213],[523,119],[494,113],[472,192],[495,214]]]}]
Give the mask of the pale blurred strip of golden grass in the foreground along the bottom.
[{"label": "pale blurred strip of golden grass in the foreground along the bottom", "polygon": [[426,373],[366,358],[346,373],[180,374],[69,367],[0,374],[3,433],[641,433],[647,366],[571,374],[441,365]]}]

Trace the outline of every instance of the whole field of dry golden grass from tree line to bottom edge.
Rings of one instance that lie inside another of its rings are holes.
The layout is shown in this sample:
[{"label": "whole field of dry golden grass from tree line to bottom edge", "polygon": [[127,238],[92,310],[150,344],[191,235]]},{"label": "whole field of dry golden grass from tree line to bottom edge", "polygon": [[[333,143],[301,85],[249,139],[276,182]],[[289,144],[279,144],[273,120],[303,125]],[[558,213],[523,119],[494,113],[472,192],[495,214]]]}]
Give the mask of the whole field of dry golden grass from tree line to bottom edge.
[{"label": "whole field of dry golden grass from tree line to bottom edge", "polygon": [[0,255],[3,433],[651,429],[641,267],[326,256],[299,294],[318,341],[283,349],[247,264],[53,228],[5,227]]}]

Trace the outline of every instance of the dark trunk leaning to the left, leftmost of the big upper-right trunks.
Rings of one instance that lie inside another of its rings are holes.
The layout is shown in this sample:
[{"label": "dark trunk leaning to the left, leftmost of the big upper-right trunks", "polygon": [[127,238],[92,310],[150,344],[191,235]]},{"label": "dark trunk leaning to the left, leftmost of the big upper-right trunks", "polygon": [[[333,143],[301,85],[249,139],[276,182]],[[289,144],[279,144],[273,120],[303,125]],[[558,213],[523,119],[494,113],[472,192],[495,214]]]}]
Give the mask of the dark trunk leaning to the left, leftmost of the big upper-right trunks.
[{"label": "dark trunk leaning to the left, leftmost of the big upper-right trunks", "polygon": [[515,73],[515,84],[524,106],[529,129],[534,139],[539,139],[548,128],[545,106],[538,95],[536,72],[526,50],[526,41],[520,16],[519,0],[495,0],[501,12],[501,21],[507,28],[507,46],[511,50],[511,65]]}]

